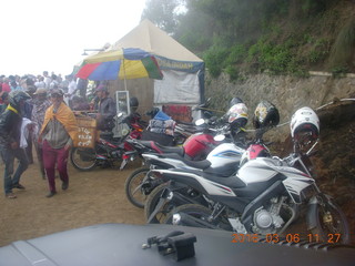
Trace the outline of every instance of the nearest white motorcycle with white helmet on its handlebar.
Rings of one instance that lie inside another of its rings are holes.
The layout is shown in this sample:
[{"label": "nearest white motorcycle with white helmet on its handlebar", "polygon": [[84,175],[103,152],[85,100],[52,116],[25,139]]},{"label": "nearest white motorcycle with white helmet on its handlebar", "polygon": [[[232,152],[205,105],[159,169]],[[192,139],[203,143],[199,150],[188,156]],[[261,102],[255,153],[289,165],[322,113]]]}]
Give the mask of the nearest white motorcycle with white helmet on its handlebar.
[{"label": "nearest white motorcycle with white helmet on its handlebar", "polygon": [[[307,237],[323,242],[336,238],[338,243],[349,243],[344,213],[331,196],[320,191],[303,162],[303,157],[311,155],[317,142],[306,153],[300,152],[302,145],[295,135],[300,133],[314,139],[314,132],[318,132],[318,121],[310,123],[310,117],[302,123],[292,121],[292,130],[295,124],[301,125],[302,130],[293,130],[294,149],[288,156],[247,161],[230,177],[221,178],[221,175],[206,175],[190,170],[156,170],[170,182],[161,191],[151,218],[163,212],[165,206],[163,223],[260,234],[270,238],[282,236],[305,213],[307,229],[311,232]],[[192,187],[207,204],[192,202],[180,193],[179,186]],[[183,205],[166,209],[168,202],[181,200],[185,201]]]}]

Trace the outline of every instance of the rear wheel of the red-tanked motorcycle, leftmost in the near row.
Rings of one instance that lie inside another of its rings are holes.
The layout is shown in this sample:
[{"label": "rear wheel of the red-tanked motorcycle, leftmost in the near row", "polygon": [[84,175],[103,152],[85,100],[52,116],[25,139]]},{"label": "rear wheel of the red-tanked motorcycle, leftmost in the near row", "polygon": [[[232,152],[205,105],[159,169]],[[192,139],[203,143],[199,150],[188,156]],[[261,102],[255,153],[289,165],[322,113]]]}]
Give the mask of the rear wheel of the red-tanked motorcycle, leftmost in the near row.
[{"label": "rear wheel of the red-tanked motorcycle, leftmost in the near row", "polygon": [[[143,183],[143,180],[146,177],[146,175],[149,176]],[[150,168],[139,168],[125,180],[124,191],[126,198],[134,206],[143,208],[148,195],[160,184],[160,178],[153,173],[150,173]]]}]

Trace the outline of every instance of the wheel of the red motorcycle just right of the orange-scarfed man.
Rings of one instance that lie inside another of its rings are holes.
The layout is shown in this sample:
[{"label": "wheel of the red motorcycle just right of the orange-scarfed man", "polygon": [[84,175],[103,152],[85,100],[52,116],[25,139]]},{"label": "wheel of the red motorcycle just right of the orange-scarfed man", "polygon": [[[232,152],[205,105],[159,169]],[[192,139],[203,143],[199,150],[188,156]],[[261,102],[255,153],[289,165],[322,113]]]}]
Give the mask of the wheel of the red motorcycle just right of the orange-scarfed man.
[{"label": "wheel of the red motorcycle just right of the orange-scarfed man", "polygon": [[70,162],[77,170],[93,170],[97,166],[97,152],[93,149],[73,147],[70,152]]}]

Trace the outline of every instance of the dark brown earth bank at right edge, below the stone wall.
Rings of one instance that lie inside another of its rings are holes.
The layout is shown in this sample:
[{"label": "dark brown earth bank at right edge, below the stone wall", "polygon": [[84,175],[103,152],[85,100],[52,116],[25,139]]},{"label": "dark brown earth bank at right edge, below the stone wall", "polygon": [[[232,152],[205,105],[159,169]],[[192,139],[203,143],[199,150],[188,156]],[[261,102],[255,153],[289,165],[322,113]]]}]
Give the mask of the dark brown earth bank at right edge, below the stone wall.
[{"label": "dark brown earth bank at right edge, below the stone wall", "polygon": [[[335,100],[317,114],[321,134],[311,157],[314,177],[321,191],[331,195],[345,213],[355,245],[355,101]],[[281,147],[282,153],[290,152],[290,137]]]}]

